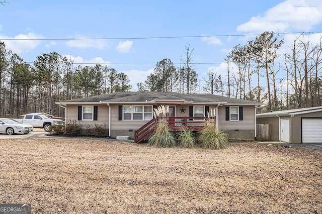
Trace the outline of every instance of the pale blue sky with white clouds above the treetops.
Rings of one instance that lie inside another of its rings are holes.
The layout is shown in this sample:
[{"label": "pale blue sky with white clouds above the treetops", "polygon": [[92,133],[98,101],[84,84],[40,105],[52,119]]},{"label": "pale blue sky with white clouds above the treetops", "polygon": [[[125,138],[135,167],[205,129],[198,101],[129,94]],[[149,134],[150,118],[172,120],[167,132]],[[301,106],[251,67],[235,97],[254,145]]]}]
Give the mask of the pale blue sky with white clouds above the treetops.
[{"label": "pale blue sky with white clouds above the treetops", "polygon": [[[97,38],[189,36],[321,31],[322,5],[316,0],[286,1],[23,1],[0,6],[1,38]],[[294,35],[288,35],[286,42]],[[7,41],[26,61],[42,52],[71,55],[76,62],[155,63],[164,57],[180,62],[185,45],[193,61],[222,62],[245,37],[104,41]],[[113,65],[132,84],[144,81],[153,65]],[[209,67],[195,65],[202,79]]]}]

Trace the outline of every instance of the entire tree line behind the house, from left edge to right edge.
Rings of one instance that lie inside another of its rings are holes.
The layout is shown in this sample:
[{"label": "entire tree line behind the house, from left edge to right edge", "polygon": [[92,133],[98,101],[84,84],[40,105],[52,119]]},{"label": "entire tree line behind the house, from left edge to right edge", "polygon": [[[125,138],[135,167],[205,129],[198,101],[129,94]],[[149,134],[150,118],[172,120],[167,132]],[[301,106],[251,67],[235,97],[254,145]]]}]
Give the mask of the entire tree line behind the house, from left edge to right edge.
[{"label": "entire tree line behind the house, from left edge to right edge", "polygon": [[[202,80],[202,90],[265,102],[262,111],[321,105],[322,40],[313,43],[299,36],[282,50],[283,43],[274,32],[264,32],[234,46],[225,58],[226,71],[210,69]],[[158,61],[136,90],[198,92],[201,86],[192,66],[193,51],[189,45],[185,47],[179,67],[169,58]],[[30,112],[64,116],[55,101],[131,89],[128,76],[113,67],[73,67],[57,52],[42,53],[29,64],[0,42],[0,117]]]}]

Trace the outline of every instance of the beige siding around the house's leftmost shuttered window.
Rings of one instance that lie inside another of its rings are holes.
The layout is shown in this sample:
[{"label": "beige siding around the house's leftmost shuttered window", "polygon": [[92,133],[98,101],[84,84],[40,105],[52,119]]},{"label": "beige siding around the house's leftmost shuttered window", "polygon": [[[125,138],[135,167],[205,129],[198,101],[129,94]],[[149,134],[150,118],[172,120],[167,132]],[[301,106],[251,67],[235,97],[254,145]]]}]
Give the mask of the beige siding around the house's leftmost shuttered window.
[{"label": "beige siding around the house's leftmost shuttered window", "polygon": [[97,121],[78,121],[78,105],[67,105],[67,118],[66,123],[73,123],[81,125],[83,128],[94,126],[98,124],[105,126],[108,129],[109,126],[109,108],[106,104],[95,105],[97,108]]}]

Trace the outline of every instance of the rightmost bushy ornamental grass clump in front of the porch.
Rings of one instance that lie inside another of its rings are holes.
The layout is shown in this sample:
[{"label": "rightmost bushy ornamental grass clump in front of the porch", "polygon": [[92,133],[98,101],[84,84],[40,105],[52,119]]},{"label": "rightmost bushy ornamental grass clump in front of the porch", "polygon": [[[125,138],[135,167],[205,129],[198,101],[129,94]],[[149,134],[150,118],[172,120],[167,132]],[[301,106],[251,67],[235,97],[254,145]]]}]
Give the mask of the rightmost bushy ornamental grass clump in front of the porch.
[{"label": "rightmost bushy ornamental grass clump in front of the porch", "polygon": [[207,120],[203,129],[200,131],[199,140],[202,147],[207,149],[223,149],[228,142],[228,136],[217,129],[214,121]]}]

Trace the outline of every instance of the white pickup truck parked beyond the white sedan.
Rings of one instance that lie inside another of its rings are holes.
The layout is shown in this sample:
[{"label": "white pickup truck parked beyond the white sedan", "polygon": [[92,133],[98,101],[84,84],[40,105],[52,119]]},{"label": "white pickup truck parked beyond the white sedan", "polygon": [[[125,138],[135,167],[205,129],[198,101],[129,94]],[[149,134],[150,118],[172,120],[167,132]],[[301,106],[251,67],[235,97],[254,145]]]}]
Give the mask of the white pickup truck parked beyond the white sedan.
[{"label": "white pickup truck parked beyond the white sedan", "polygon": [[51,126],[54,124],[63,124],[62,120],[51,119],[45,115],[40,114],[28,114],[25,115],[23,119],[14,119],[23,124],[30,124],[33,127],[44,128],[46,132],[51,130]]}]

